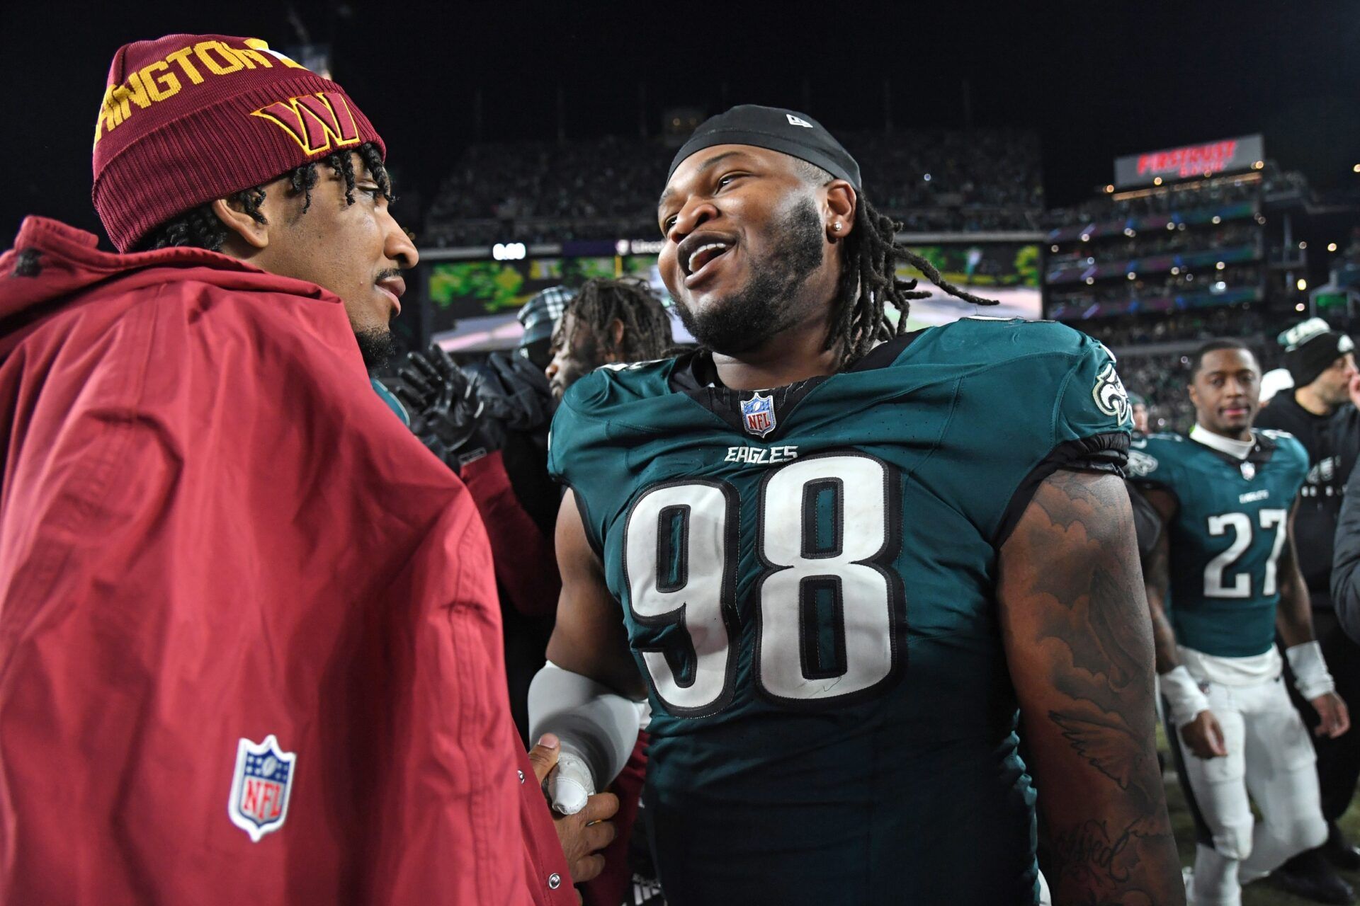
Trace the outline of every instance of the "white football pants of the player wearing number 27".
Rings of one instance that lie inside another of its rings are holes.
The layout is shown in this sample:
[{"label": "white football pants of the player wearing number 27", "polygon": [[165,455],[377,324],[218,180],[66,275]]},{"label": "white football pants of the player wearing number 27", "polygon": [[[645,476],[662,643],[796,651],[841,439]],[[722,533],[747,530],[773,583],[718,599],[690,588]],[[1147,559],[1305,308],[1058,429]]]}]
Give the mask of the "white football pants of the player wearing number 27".
[{"label": "white football pants of the player wearing number 27", "polygon": [[[1253,686],[1210,683],[1209,709],[1228,754],[1198,758],[1176,732],[1193,807],[1213,837],[1195,848],[1195,906],[1239,906],[1242,884],[1327,838],[1315,755],[1284,679]],[[1262,820],[1255,825],[1255,800]]]}]

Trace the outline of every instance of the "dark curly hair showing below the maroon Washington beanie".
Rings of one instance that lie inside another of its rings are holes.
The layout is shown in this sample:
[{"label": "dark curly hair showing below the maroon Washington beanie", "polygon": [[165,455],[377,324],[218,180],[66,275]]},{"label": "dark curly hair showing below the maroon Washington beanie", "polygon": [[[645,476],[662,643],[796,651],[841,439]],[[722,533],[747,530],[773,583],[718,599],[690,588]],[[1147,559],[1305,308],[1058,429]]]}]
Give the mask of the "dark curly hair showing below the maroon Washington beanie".
[{"label": "dark curly hair showing below the maroon Washington beanie", "polygon": [[[363,160],[363,166],[367,168],[369,175],[378,183],[378,189],[382,190],[382,197],[389,202],[393,201],[394,196],[392,194],[392,181],[388,177],[388,168],[382,163],[382,153],[379,153],[378,145],[371,141],[366,141],[359,145],[359,159]],[[354,158],[350,156],[348,151],[337,151],[321,158],[320,160],[311,160],[301,167],[294,167],[288,173],[283,174],[288,179],[288,190],[292,194],[303,196],[303,213],[311,208],[311,189],[317,185],[317,167],[322,163],[330,167],[333,174],[344,179],[345,204],[354,204]],[[241,209],[245,211],[256,223],[265,223],[264,215],[260,212],[260,205],[264,202],[262,185],[242,189],[241,192],[233,192],[227,196],[227,200],[233,204],[241,205]],[[190,208],[189,211],[177,215],[148,232],[137,244],[137,249],[140,251],[148,251],[151,249],[190,246],[196,249],[207,249],[208,251],[220,251],[226,240],[227,227],[218,220],[218,215],[212,212],[212,202],[208,201],[197,208]]]}]

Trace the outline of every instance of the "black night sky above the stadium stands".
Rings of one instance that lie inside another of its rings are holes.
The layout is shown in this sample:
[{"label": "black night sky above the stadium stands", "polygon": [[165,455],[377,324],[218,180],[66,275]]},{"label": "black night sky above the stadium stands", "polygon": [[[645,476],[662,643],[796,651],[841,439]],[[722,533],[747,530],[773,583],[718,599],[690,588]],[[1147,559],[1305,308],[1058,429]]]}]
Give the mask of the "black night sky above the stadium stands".
[{"label": "black night sky above the stadium stands", "polygon": [[[0,0],[5,244],[26,213],[98,228],[90,145],[118,45],[298,42],[283,3],[90,5]],[[1360,186],[1357,3],[291,5],[426,192],[473,137],[475,88],[484,137],[510,140],[556,134],[559,84],[568,136],[636,134],[639,83],[656,132],[664,107],[717,113],[724,98],[876,128],[885,86],[896,129],[957,128],[967,81],[974,125],[1039,132],[1050,205],[1108,182],[1119,153],[1250,132],[1318,187]]]}]

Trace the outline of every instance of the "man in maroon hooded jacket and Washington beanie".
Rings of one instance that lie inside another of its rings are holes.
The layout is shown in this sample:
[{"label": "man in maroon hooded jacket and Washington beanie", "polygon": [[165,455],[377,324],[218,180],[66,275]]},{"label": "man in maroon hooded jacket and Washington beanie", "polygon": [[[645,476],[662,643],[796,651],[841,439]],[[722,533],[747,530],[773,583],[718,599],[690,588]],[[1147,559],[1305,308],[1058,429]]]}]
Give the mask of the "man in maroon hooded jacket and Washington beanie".
[{"label": "man in maroon hooded jacket and Washington beanie", "polygon": [[126,45],[124,254],[0,257],[0,902],[573,903],[608,842],[555,833],[486,531],[369,388],[416,261],[384,158],[262,41]]}]

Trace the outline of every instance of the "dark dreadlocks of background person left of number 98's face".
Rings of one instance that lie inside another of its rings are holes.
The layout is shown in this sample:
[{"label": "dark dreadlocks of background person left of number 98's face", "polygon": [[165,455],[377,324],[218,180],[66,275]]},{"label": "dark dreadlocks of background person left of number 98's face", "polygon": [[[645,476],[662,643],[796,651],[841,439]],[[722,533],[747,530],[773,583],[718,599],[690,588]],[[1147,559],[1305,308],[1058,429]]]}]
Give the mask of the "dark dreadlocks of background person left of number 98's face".
[{"label": "dark dreadlocks of background person left of number 98's face", "polygon": [[[571,331],[567,333],[567,315]],[[623,337],[615,341],[613,322],[623,323]],[[649,361],[670,348],[670,316],[651,289],[638,280],[593,277],[581,284],[552,331],[552,348],[571,348],[585,327],[600,360]]]}]

